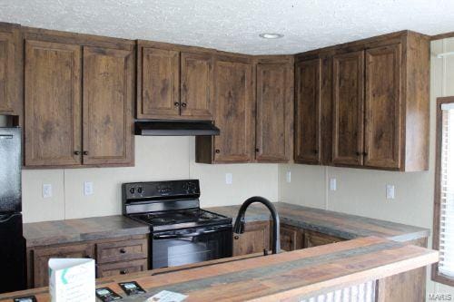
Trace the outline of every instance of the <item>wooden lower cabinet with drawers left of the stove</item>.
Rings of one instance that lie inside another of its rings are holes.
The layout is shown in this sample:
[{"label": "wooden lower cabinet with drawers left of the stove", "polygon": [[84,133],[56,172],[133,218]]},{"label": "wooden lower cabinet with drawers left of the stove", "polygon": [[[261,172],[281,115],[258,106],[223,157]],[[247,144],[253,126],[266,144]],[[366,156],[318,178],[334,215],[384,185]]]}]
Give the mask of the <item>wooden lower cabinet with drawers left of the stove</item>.
[{"label": "wooden lower cabinet with drawers left of the stove", "polygon": [[148,269],[147,250],[146,235],[28,248],[27,285],[29,288],[48,285],[50,258],[93,258],[96,278],[102,278]]}]

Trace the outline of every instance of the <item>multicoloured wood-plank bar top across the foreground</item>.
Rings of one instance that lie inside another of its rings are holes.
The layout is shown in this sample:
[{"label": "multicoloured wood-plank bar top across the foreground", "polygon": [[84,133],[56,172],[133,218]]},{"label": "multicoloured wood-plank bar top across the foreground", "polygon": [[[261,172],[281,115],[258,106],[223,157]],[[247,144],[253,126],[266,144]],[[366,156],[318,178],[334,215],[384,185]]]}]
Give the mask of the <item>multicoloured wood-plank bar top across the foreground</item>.
[{"label": "multicoloured wood-plank bar top across the foreground", "polygon": [[[187,267],[150,270],[97,280],[123,301],[144,301],[162,290],[185,301],[297,301],[321,292],[386,278],[439,260],[435,250],[378,237],[342,241],[256,258],[227,258]],[[146,294],[126,297],[118,282],[136,281]],[[47,287],[0,295],[0,300],[35,295],[49,301]]]}]

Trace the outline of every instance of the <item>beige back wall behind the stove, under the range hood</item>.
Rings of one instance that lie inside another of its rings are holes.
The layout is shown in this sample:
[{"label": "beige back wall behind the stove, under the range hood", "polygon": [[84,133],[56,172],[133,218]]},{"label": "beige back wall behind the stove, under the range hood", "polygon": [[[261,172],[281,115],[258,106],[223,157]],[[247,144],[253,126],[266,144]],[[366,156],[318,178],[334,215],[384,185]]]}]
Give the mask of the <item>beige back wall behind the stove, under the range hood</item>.
[{"label": "beige back wall behind the stove, under the range hood", "polygon": [[[202,207],[242,203],[260,194],[278,197],[278,166],[195,163],[193,137],[135,137],[135,167],[23,171],[25,222],[121,214],[121,184],[129,181],[200,179]],[[232,173],[232,185],[225,173]],[[94,194],[84,196],[84,181]],[[43,198],[44,183],[53,197]]]}]

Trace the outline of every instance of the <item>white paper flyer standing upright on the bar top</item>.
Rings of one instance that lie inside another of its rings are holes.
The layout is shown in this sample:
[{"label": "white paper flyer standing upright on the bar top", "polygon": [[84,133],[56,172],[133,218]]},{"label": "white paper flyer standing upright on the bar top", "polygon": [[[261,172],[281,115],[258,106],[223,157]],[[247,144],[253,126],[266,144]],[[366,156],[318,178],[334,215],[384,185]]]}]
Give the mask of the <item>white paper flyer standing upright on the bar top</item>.
[{"label": "white paper flyer standing upright on the bar top", "polygon": [[49,294],[52,302],[94,302],[94,259],[49,259]]}]

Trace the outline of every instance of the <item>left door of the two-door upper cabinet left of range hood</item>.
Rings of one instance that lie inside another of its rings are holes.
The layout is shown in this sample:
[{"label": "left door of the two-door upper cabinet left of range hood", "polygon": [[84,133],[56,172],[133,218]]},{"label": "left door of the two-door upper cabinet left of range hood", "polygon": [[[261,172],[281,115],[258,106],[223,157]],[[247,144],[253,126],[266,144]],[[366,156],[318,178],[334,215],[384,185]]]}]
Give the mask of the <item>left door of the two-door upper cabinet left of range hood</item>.
[{"label": "left door of the two-door upper cabinet left of range hood", "polygon": [[81,51],[25,41],[25,165],[81,164]]}]

